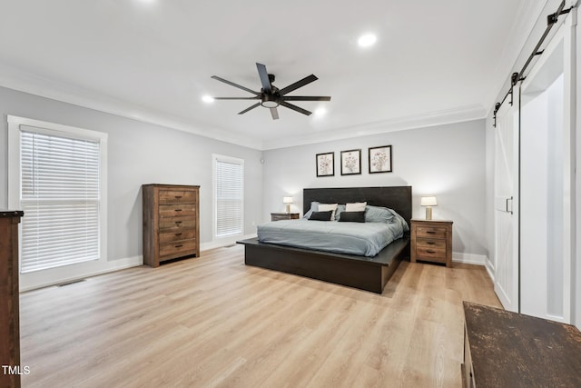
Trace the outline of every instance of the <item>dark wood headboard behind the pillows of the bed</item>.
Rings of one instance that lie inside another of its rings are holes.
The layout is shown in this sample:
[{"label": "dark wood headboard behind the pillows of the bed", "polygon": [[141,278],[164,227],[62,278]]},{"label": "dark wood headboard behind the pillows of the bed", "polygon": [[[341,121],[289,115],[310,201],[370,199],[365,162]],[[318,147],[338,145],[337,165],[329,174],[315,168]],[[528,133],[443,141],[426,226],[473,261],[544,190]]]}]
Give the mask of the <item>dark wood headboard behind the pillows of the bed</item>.
[{"label": "dark wood headboard behind the pillows of the bed", "polygon": [[408,224],[411,220],[411,186],[303,189],[303,214],[310,210],[310,203],[313,201],[321,204],[367,202],[367,204],[395,210]]}]

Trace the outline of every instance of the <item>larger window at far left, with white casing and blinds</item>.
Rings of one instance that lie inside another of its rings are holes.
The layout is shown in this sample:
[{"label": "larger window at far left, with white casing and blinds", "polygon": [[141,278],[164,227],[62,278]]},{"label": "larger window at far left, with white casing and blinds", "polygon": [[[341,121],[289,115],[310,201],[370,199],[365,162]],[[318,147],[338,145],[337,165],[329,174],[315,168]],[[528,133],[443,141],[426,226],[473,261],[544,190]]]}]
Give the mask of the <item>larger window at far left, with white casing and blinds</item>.
[{"label": "larger window at far left, with white casing and blinds", "polygon": [[106,264],[107,134],[8,116],[8,202],[23,210],[21,289]]}]

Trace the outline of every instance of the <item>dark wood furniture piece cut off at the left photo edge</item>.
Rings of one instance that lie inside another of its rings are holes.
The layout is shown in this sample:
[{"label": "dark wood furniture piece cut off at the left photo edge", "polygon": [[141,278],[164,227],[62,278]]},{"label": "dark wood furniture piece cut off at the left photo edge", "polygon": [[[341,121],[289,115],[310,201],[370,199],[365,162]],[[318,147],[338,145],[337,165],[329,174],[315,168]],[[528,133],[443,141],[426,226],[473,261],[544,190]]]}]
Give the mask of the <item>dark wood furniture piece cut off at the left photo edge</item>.
[{"label": "dark wood furniture piece cut off at the left photo edge", "polygon": [[[21,211],[0,211],[0,386],[19,387],[18,224]],[[6,366],[5,366],[6,365]],[[12,370],[5,370],[5,368]]]}]

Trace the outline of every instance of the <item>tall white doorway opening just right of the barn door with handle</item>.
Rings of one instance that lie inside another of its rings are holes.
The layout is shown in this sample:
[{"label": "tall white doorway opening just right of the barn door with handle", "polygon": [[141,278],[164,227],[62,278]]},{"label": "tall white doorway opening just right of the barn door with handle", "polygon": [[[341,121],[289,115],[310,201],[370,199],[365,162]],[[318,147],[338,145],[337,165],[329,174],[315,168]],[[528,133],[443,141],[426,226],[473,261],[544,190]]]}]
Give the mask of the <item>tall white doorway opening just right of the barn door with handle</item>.
[{"label": "tall white doorway opening just right of the barn door with handle", "polygon": [[575,157],[568,18],[521,91],[521,313],[570,323],[575,244]]}]

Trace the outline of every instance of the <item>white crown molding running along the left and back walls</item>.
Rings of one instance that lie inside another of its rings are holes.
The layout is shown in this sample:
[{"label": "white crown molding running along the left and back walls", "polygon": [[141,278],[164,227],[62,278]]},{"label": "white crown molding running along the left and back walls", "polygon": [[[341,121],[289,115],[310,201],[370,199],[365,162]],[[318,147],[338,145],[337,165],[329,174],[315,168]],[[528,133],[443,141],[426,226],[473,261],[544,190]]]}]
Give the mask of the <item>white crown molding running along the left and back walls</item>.
[{"label": "white crown molding running along the left and back walls", "polygon": [[486,111],[483,106],[475,104],[428,114],[418,114],[373,123],[351,125],[349,127],[332,129],[317,134],[262,141],[246,135],[241,136],[233,134],[212,125],[191,123],[181,117],[155,112],[151,109],[146,109],[135,104],[129,104],[111,96],[87,91],[86,89],[74,85],[57,83],[53,80],[25,73],[22,70],[15,69],[15,67],[3,64],[0,64],[0,86],[32,95],[39,95],[67,104],[94,109],[107,114],[115,114],[147,124],[155,124],[191,134],[197,134],[225,143],[238,144],[259,151],[328,142],[330,140],[348,139],[370,134],[382,134],[439,124],[452,124],[486,117]]}]

